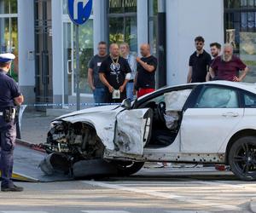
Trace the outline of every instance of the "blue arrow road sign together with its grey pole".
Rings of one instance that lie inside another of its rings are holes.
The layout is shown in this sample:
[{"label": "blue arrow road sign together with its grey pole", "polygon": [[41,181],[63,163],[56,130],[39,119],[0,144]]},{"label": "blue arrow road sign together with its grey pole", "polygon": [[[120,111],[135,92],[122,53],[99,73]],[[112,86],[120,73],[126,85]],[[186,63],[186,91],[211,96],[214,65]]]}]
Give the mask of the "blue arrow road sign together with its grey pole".
[{"label": "blue arrow road sign together with its grey pole", "polygon": [[67,0],[68,14],[75,25],[76,36],[76,93],[77,93],[77,110],[80,110],[80,65],[79,65],[79,26],[90,18],[92,9],[92,0]]}]

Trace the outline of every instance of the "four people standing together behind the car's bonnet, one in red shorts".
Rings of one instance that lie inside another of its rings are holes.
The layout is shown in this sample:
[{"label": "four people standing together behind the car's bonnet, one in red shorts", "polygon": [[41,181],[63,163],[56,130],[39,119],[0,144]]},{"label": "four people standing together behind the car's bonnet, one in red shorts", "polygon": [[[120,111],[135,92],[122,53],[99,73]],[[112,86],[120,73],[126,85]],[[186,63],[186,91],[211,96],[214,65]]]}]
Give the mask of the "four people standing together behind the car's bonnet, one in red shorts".
[{"label": "four people standing together behind the car's bonnet, one in red shorts", "polygon": [[96,103],[119,103],[151,93],[155,88],[157,59],[150,46],[140,47],[142,57],[131,54],[128,43],[98,43],[98,54],[89,63],[88,83]]}]

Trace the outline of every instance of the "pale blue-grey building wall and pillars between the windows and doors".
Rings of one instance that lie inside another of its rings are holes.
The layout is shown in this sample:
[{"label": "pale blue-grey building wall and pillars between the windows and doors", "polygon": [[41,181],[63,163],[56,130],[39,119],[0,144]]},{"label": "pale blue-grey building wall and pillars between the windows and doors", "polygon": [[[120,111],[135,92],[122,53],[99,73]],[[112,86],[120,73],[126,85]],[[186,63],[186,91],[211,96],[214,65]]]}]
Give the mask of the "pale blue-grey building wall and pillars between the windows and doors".
[{"label": "pale blue-grey building wall and pillars between the windows and doors", "polygon": [[[52,2],[53,95],[54,102],[64,100],[63,29],[61,0]],[[94,52],[97,43],[106,40],[108,26],[106,3],[94,1]],[[138,52],[148,41],[148,0],[137,2]],[[105,14],[104,14],[105,13]],[[34,9],[33,0],[18,1],[20,88],[26,102],[35,102]],[[167,83],[185,83],[189,55],[195,51],[194,38],[205,37],[209,43],[224,43],[223,0],[166,0]],[[160,60],[160,59],[159,59]]]}]

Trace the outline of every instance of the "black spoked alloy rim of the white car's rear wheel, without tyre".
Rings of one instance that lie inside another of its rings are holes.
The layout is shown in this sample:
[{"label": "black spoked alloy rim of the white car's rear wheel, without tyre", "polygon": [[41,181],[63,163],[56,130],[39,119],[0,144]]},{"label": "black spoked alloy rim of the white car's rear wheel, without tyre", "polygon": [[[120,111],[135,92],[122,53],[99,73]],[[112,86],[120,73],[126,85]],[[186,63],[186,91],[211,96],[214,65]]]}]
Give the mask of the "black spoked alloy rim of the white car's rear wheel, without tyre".
[{"label": "black spoked alloy rim of the white car's rear wheel, without tyre", "polygon": [[233,157],[234,166],[242,176],[256,176],[256,145],[243,142]]}]

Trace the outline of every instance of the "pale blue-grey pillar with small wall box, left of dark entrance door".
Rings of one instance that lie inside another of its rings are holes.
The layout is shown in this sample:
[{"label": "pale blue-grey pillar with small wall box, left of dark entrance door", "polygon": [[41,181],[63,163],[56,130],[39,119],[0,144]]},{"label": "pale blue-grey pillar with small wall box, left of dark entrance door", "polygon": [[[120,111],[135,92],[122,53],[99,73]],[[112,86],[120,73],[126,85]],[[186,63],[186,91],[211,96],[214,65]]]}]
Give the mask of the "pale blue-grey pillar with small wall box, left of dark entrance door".
[{"label": "pale blue-grey pillar with small wall box, left of dark entrance door", "polygon": [[19,84],[26,103],[35,102],[34,1],[18,1]]}]

